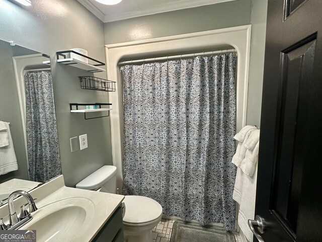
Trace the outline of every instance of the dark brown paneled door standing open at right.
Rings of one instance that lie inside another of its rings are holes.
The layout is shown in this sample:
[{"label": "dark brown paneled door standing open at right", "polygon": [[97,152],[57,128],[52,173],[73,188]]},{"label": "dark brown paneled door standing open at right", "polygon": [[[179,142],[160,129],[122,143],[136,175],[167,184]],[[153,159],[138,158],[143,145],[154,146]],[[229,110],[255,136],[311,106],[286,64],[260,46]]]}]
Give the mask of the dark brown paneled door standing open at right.
[{"label": "dark brown paneled door standing open at right", "polygon": [[322,0],[269,0],[255,211],[263,240],[321,242],[321,188]]}]

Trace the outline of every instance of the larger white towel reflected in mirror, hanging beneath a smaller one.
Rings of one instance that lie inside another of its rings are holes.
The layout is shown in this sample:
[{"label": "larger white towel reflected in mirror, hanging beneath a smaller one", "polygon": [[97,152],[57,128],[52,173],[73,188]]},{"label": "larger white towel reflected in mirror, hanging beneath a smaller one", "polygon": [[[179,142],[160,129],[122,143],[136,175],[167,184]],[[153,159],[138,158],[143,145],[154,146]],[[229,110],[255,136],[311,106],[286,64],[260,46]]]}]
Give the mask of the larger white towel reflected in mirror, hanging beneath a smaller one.
[{"label": "larger white towel reflected in mirror, hanging beneath a smaller one", "polygon": [[9,145],[0,147],[0,175],[6,174],[13,170],[18,170],[17,158],[12,142],[9,124],[4,122],[7,127],[9,136]]}]

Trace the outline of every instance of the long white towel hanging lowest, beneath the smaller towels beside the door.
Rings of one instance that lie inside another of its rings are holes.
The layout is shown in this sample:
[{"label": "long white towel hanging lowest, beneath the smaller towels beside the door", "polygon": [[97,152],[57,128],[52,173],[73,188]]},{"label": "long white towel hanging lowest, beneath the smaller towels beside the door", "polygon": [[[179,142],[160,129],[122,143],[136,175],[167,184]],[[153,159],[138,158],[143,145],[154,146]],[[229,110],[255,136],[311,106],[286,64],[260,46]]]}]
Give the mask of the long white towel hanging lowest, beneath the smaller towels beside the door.
[{"label": "long white towel hanging lowest, beneath the smaller towels beside the door", "polygon": [[257,162],[253,176],[246,175],[239,167],[237,168],[235,186],[232,199],[239,204],[237,223],[249,241],[253,241],[253,233],[248,227],[248,219],[255,217],[257,183]]}]

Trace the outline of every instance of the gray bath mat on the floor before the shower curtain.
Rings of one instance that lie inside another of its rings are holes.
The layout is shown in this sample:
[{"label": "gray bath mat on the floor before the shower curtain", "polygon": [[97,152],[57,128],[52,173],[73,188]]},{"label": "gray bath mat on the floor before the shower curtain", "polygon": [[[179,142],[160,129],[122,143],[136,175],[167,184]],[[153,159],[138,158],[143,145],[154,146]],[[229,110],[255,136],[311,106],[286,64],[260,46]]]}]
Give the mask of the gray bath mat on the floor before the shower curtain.
[{"label": "gray bath mat on the floor before the shower curtain", "polygon": [[219,226],[175,221],[170,242],[235,242],[234,235]]}]

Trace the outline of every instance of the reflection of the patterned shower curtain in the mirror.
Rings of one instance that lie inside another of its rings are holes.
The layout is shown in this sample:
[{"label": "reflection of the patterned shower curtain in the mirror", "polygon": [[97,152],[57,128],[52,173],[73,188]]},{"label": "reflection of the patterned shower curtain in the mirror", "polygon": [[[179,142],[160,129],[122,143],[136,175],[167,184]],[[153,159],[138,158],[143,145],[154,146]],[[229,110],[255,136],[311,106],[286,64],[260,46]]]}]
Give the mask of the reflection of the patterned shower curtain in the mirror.
[{"label": "reflection of the patterned shower curtain in the mirror", "polygon": [[45,182],[61,174],[50,71],[25,71],[29,178]]}]

